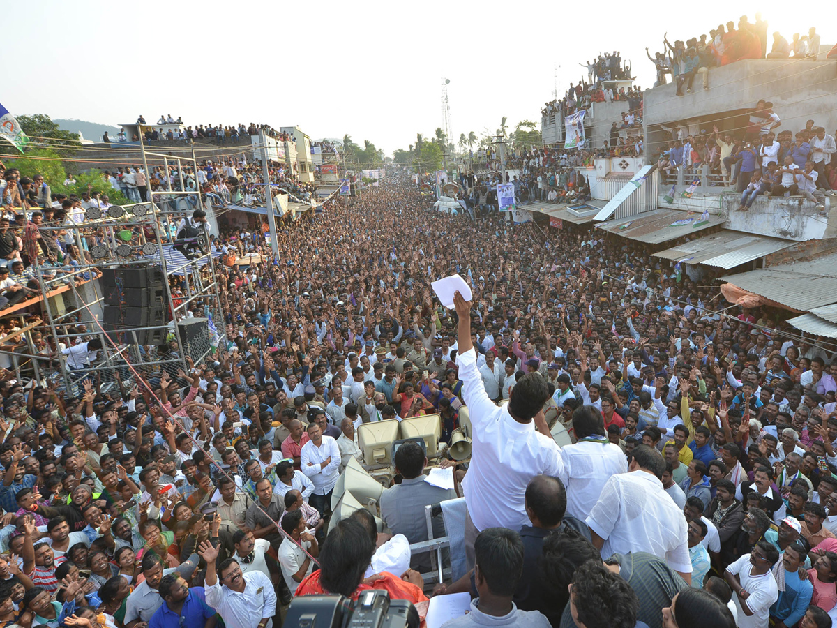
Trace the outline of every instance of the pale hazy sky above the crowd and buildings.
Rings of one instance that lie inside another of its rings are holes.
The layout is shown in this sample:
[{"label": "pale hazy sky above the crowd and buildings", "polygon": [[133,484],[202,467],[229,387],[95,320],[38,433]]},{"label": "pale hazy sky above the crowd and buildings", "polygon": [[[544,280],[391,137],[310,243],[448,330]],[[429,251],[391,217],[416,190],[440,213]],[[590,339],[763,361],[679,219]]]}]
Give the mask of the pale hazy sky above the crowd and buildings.
[{"label": "pale hazy sky above the crowd and buildings", "polygon": [[752,22],[759,10],[771,41],[777,29],[790,40],[811,26],[823,44],[837,41],[837,24],[819,23],[816,3],[704,0],[643,12],[600,0],[577,9],[588,28],[568,6],[29,0],[17,19],[33,28],[3,35],[3,48],[18,53],[0,102],[13,114],[115,126],[140,114],[193,126],[296,125],[313,139],[348,133],[392,154],[442,126],[445,78],[456,142],[469,131],[493,134],[502,116],[510,130],[526,119],[540,126],[556,83],[563,95],[586,75],[578,64],[606,51],[619,50],[635,85],[650,87],[644,49],[662,50],[665,32],[674,43],[744,14]]}]

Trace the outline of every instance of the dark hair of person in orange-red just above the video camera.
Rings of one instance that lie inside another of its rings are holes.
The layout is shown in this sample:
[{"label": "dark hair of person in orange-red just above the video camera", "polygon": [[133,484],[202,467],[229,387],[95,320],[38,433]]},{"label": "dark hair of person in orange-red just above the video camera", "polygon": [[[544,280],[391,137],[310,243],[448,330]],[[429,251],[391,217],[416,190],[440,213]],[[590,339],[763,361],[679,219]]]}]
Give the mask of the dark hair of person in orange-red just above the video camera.
[{"label": "dark hair of person in orange-red just above the video camera", "polygon": [[375,543],[361,522],[352,518],[337,522],[320,550],[322,588],[351,597],[361,584],[373,553]]}]

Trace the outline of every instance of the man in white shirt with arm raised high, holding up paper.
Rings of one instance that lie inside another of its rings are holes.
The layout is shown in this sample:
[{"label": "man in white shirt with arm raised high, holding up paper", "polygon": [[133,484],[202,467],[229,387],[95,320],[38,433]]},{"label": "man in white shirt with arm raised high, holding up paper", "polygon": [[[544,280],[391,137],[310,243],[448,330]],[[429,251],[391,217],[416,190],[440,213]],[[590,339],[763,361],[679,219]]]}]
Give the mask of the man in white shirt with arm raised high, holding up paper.
[{"label": "man in white shirt with arm raised high, holding up paper", "polygon": [[526,486],[537,475],[560,476],[563,463],[561,448],[549,434],[542,414],[549,397],[546,379],[539,373],[527,373],[511,390],[509,403],[498,408],[486,394],[476,368],[470,336],[470,301],[457,292],[454,305],[459,316],[456,363],[463,383],[462,397],[474,427],[470,468],[462,485],[468,507],[465,557],[471,569],[480,530],[519,530],[527,525]]}]

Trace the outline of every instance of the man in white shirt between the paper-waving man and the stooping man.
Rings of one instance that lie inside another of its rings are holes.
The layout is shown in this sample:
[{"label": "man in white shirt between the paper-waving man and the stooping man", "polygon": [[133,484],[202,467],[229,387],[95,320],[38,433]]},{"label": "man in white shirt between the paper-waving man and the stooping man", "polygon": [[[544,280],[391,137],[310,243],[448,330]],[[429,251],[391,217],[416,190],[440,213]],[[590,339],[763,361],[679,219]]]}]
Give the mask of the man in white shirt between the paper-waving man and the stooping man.
[{"label": "man in white shirt between the paper-waving man and the stooping man", "polygon": [[619,445],[608,440],[602,413],[585,405],[573,413],[573,429],[578,442],[561,449],[563,471],[559,475],[567,486],[567,514],[584,521],[598,501],[610,476],[628,471],[628,461]]}]

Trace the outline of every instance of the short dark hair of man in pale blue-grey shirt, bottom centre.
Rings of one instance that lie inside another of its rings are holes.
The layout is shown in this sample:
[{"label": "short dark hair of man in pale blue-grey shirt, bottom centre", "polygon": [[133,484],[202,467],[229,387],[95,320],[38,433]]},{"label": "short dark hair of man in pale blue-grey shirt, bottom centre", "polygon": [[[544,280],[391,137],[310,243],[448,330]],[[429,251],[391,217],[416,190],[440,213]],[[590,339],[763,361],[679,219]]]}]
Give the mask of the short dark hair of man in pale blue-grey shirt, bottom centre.
[{"label": "short dark hair of man in pale blue-grey shirt, bottom centre", "polygon": [[511,598],[523,572],[523,542],[508,528],[486,528],[474,543],[475,568],[493,595]]}]

